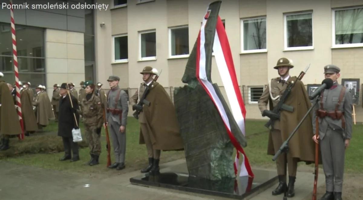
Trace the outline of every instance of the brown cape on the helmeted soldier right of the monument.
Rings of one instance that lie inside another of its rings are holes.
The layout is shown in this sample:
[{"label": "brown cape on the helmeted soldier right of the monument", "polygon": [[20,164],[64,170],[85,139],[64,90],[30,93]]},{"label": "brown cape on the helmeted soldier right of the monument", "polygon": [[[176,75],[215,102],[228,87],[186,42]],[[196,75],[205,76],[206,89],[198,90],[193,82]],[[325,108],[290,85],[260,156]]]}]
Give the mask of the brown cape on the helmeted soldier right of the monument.
[{"label": "brown cape on the helmeted soldier right of the monument", "polygon": [[[285,104],[294,107],[294,111],[289,112],[281,110],[280,112],[280,129],[283,141],[289,137],[290,133],[295,129],[307,110],[311,107],[309,95],[307,94],[303,82],[297,80],[297,77],[290,77],[289,80],[287,80],[287,82],[291,81],[295,81],[296,83],[291,90],[289,98],[286,99]],[[269,101],[272,101],[271,97]],[[269,103],[269,105],[270,110],[272,110],[272,103]],[[314,162],[315,160],[315,143],[311,139],[314,135],[311,121],[312,114],[310,113],[289,142],[289,153],[292,157],[308,163]],[[275,155],[271,133],[269,134],[267,151],[269,155]]]}]

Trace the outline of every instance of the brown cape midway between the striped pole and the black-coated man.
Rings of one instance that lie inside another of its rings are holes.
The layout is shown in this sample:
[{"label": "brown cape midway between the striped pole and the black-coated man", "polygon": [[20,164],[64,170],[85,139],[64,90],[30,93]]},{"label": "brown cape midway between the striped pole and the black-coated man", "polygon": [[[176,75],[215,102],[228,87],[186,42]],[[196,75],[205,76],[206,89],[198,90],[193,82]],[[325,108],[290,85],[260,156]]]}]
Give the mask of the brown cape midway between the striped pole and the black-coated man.
[{"label": "brown cape midway between the striped pole and the black-coated man", "polygon": [[49,119],[53,117],[52,104],[46,92],[39,93],[37,107],[37,123],[43,126],[49,124]]}]

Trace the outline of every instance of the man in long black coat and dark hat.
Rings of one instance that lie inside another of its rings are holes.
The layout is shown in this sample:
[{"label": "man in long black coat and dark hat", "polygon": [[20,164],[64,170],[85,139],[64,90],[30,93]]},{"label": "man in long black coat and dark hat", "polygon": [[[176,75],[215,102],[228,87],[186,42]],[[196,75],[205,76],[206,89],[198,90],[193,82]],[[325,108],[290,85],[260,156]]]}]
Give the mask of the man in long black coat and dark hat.
[{"label": "man in long black coat and dark hat", "polygon": [[[61,98],[59,100],[58,136],[62,137],[64,146],[64,156],[59,160],[70,159],[70,162],[74,162],[79,160],[78,144],[73,142],[72,136],[72,129],[78,128],[74,120],[74,114],[76,114],[77,124],[79,124],[79,114],[77,114],[78,101],[72,94],[70,96],[68,95],[66,85],[67,83],[62,83],[59,91]],[[70,98],[72,98],[73,108],[70,103]]]}]

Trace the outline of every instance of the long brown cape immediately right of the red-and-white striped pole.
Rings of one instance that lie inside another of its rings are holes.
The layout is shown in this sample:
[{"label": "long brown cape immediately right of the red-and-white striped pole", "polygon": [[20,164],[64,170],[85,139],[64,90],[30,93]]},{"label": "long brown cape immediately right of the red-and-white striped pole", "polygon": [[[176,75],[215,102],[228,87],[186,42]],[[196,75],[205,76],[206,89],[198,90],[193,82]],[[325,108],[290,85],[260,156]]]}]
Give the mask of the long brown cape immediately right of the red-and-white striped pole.
[{"label": "long brown cape immediately right of the red-and-white striped pole", "polygon": [[21,93],[20,101],[21,101],[21,113],[23,115],[24,129],[26,131],[38,130],[37,119],[33,111],[32,98],[30,98],[29,93],[28,92]]}]

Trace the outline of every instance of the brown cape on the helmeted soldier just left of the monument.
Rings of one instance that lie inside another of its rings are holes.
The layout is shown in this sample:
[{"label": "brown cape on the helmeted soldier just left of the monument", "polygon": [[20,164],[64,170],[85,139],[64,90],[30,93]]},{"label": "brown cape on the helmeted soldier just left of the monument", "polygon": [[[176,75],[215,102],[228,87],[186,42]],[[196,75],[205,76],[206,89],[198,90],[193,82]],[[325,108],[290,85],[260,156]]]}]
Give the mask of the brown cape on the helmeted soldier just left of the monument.
[{"label": "brown cape on the helmeted soldier just left of the monument", "polygon": [[[152,147],[158,150],[183,149],[175,107],[164,87],[154,82],[146,100],[151,102],[150,106],[143,106],[143,113],[151,130]],[[139,142],[145,143],[141,129]]]}]

